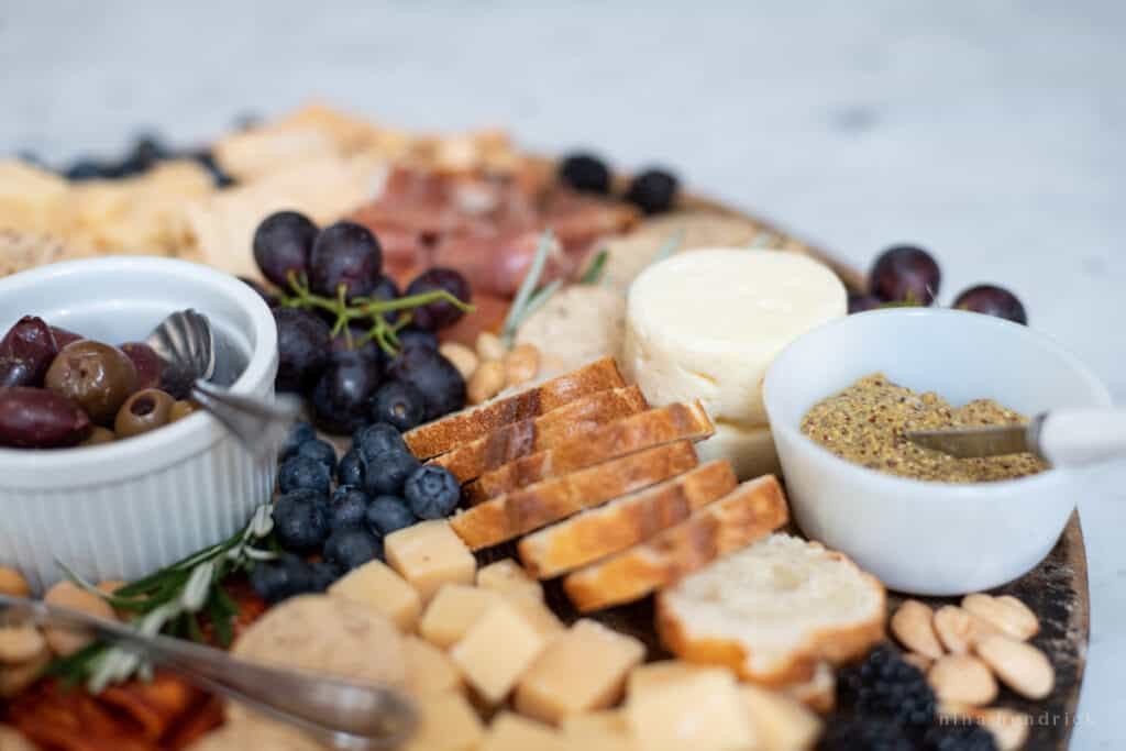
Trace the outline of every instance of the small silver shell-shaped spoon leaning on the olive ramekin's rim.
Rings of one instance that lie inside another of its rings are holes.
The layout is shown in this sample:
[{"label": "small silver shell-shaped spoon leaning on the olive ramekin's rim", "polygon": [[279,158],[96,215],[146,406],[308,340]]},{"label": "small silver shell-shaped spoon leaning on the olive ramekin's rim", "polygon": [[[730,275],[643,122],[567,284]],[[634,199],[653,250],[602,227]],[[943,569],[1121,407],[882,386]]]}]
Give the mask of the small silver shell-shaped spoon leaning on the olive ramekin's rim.
[{"label": "small silver shell-shaped spoon leaning on the olive ramekin's rim", "polygon": [[176,399],[190,396],[223,423],[258,457],[277,450],[301,412],[301,401],[278,394],[267,401],[232,394],[245,363],[222,338],[215,336],[206,315],[177,311],[160,322],[145,340],[161,361],[161,388]]}]

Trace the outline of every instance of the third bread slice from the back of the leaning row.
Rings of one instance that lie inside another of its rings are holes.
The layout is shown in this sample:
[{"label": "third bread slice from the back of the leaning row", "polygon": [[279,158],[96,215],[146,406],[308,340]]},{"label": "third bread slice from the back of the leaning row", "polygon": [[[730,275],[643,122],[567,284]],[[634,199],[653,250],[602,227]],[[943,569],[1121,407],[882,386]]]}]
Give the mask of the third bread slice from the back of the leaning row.
[{"label": "third bread slice from the back of the leaning row", "polygon": [[643,448],[674,440],[703,440],[713,430],[712,420],[699,401],[631,414],[486,472],[465,486],[463,497],[470,504],[476,504]]}]

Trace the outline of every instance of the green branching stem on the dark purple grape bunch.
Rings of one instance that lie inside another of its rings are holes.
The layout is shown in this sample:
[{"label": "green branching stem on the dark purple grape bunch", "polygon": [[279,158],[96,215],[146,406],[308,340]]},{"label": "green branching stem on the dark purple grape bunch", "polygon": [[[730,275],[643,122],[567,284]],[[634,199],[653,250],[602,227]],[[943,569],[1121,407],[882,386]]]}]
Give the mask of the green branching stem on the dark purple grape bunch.
[{"label": "green branching stem on the dark purple grape bunch", "polygon": [[[363,347],[369,341],[374,341],[384,352],[394,357],[399,352],[401,342],[399,332],[406,328],[413,316],[410,311],[422,305],[445,301],[464,313],[472,313],[475,309],[468,303],[464,303],[445,289],[434,289],[420,295],[408,295],[397,299],[372,299],[370,297],[352,297],[348,301],[348,285],[341,284],[337,287],[336,298],[315,295],[309,288],[309,279],[304,274],[289,271],[289,289],[292,294],[283,294],[280,304],[285,307],[300,307],[302,310],[322,310],[336,316],[332,324],[332,336],[343,332],[349,349]],[[394,323],[388,323],[384,313],[395,311],[408,311],[400,315]],[[351,328],[348,325],[352,321],[366,322],[367,331],[360,337],[358,342],[352,341]]]}]

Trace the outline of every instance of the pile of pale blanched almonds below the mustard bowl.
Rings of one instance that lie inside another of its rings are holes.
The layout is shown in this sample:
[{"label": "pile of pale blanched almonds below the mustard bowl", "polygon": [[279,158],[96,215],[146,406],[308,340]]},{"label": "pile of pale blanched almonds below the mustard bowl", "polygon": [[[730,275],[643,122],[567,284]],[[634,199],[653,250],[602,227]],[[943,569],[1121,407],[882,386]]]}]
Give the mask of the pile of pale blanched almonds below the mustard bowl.
[{"label": "pile of pale blanched almonds below the mustard bowl", "polygon": [[999,680],[1028,699],[1043,699],[1055,686],[1047,655],[1027,643],[1039,632],[1028,606],[980,592],[937,611],[908,600],[892,615],[891,629],[910,651],[905,659],[927,673],[944,715],[984,725],[1002,751],[1024,745],[1028,718],[988,705]]}]

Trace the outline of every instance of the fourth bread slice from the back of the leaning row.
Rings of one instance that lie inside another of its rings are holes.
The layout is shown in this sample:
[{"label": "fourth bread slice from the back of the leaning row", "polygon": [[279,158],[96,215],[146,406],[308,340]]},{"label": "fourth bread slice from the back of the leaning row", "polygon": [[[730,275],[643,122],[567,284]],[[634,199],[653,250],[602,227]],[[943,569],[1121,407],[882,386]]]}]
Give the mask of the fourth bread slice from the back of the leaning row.
[{"label": "fourth bread slice from the back of the leaning row", "polygon": [[665,444],[479,503],[449,524],[470,548],[480,551],[668,480],[696,463],[687,440]]}]

